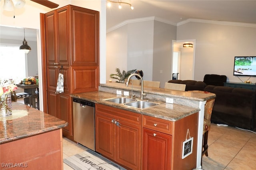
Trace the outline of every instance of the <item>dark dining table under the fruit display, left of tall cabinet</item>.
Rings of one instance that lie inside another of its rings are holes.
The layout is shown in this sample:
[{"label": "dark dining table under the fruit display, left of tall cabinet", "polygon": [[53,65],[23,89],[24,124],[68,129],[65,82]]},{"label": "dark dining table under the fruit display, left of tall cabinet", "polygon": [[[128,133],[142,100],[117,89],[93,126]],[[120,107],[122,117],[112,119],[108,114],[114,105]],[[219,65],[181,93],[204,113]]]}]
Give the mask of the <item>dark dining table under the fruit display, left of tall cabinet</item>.
[{"label": "dark dining table under the fruit display, left of tall cabinet", "polygon": [[[39,110],[39,89],[37,84],[23,85],[17,84],[17,87],[24,89],[25,93],[31,94],[32,107]],[[27,101],[26,101],[27,100]],[[25,104],[29,103],[29,99],[25,99]]]}]

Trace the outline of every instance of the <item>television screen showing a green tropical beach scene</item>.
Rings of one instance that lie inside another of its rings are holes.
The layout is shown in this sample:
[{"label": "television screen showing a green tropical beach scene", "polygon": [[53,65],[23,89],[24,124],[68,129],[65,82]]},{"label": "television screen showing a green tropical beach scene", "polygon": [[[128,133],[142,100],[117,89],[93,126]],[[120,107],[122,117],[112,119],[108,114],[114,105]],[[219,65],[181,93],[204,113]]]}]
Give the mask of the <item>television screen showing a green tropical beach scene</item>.
[{"label": "television screen showing a green tropical beach scene", "polygon": [[256,56],[235,57],[234,75],[256,76]]}]

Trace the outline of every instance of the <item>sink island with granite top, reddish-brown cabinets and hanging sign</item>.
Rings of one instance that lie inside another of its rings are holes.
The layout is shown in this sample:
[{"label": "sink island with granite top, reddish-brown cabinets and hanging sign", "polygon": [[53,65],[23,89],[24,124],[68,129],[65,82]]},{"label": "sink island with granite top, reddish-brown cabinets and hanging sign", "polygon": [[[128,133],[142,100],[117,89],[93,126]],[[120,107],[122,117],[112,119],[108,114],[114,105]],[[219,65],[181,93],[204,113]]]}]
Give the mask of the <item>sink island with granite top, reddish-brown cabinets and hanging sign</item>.
[{"label": "sink island with granite top, reddish-brown cabinets and hanging sign", "polygon": [[[200,168],[204,104],[216,95],[144,87],[144,99],[159,105],[137,109],[105,100],[131,90],[122,83],[106,83],[99,91],[71,95],[96,103],[96,151],[128,169]],[[139,98],[140,86],[133,86],[133,93]],[[173,103],[166,103],[166,97]],[[102,136],[106,140],[99,140]],[[192,152],[184,156],[190,142]]]}]

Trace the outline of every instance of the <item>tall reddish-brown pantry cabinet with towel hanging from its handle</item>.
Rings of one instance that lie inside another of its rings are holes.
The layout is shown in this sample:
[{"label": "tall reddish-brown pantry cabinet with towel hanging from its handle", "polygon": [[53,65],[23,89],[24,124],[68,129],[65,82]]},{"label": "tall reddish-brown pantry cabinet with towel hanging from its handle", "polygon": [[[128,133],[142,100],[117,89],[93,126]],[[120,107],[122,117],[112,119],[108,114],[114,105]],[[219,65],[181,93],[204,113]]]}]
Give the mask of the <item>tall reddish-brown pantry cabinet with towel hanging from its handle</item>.
[{"label": "tall reddish-brown pantry cabinet with towel hanging from its handle", "polygon": [[[99,85],[99,12],[68,5],[40,14],[40,22],[44,112],[68,122],[63,135],[74,140],[70,94]],[[56,93],[59,73],[64,93]]]}]

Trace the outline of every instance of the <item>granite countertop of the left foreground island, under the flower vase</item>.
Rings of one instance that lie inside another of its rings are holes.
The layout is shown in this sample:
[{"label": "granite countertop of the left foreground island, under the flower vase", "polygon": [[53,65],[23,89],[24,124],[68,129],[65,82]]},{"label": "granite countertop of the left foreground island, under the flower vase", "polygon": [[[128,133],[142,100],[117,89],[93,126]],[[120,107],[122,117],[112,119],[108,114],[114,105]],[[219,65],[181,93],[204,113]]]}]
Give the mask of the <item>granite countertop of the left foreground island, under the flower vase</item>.
[{"label": "granite countertop of the left foreground island, under the flower vase", "polygon": [[8,120],[9,116],[0,117],[0,144],[68,125],[65,121],[22,103],[12,103],[12,111],[13,119]]}]

